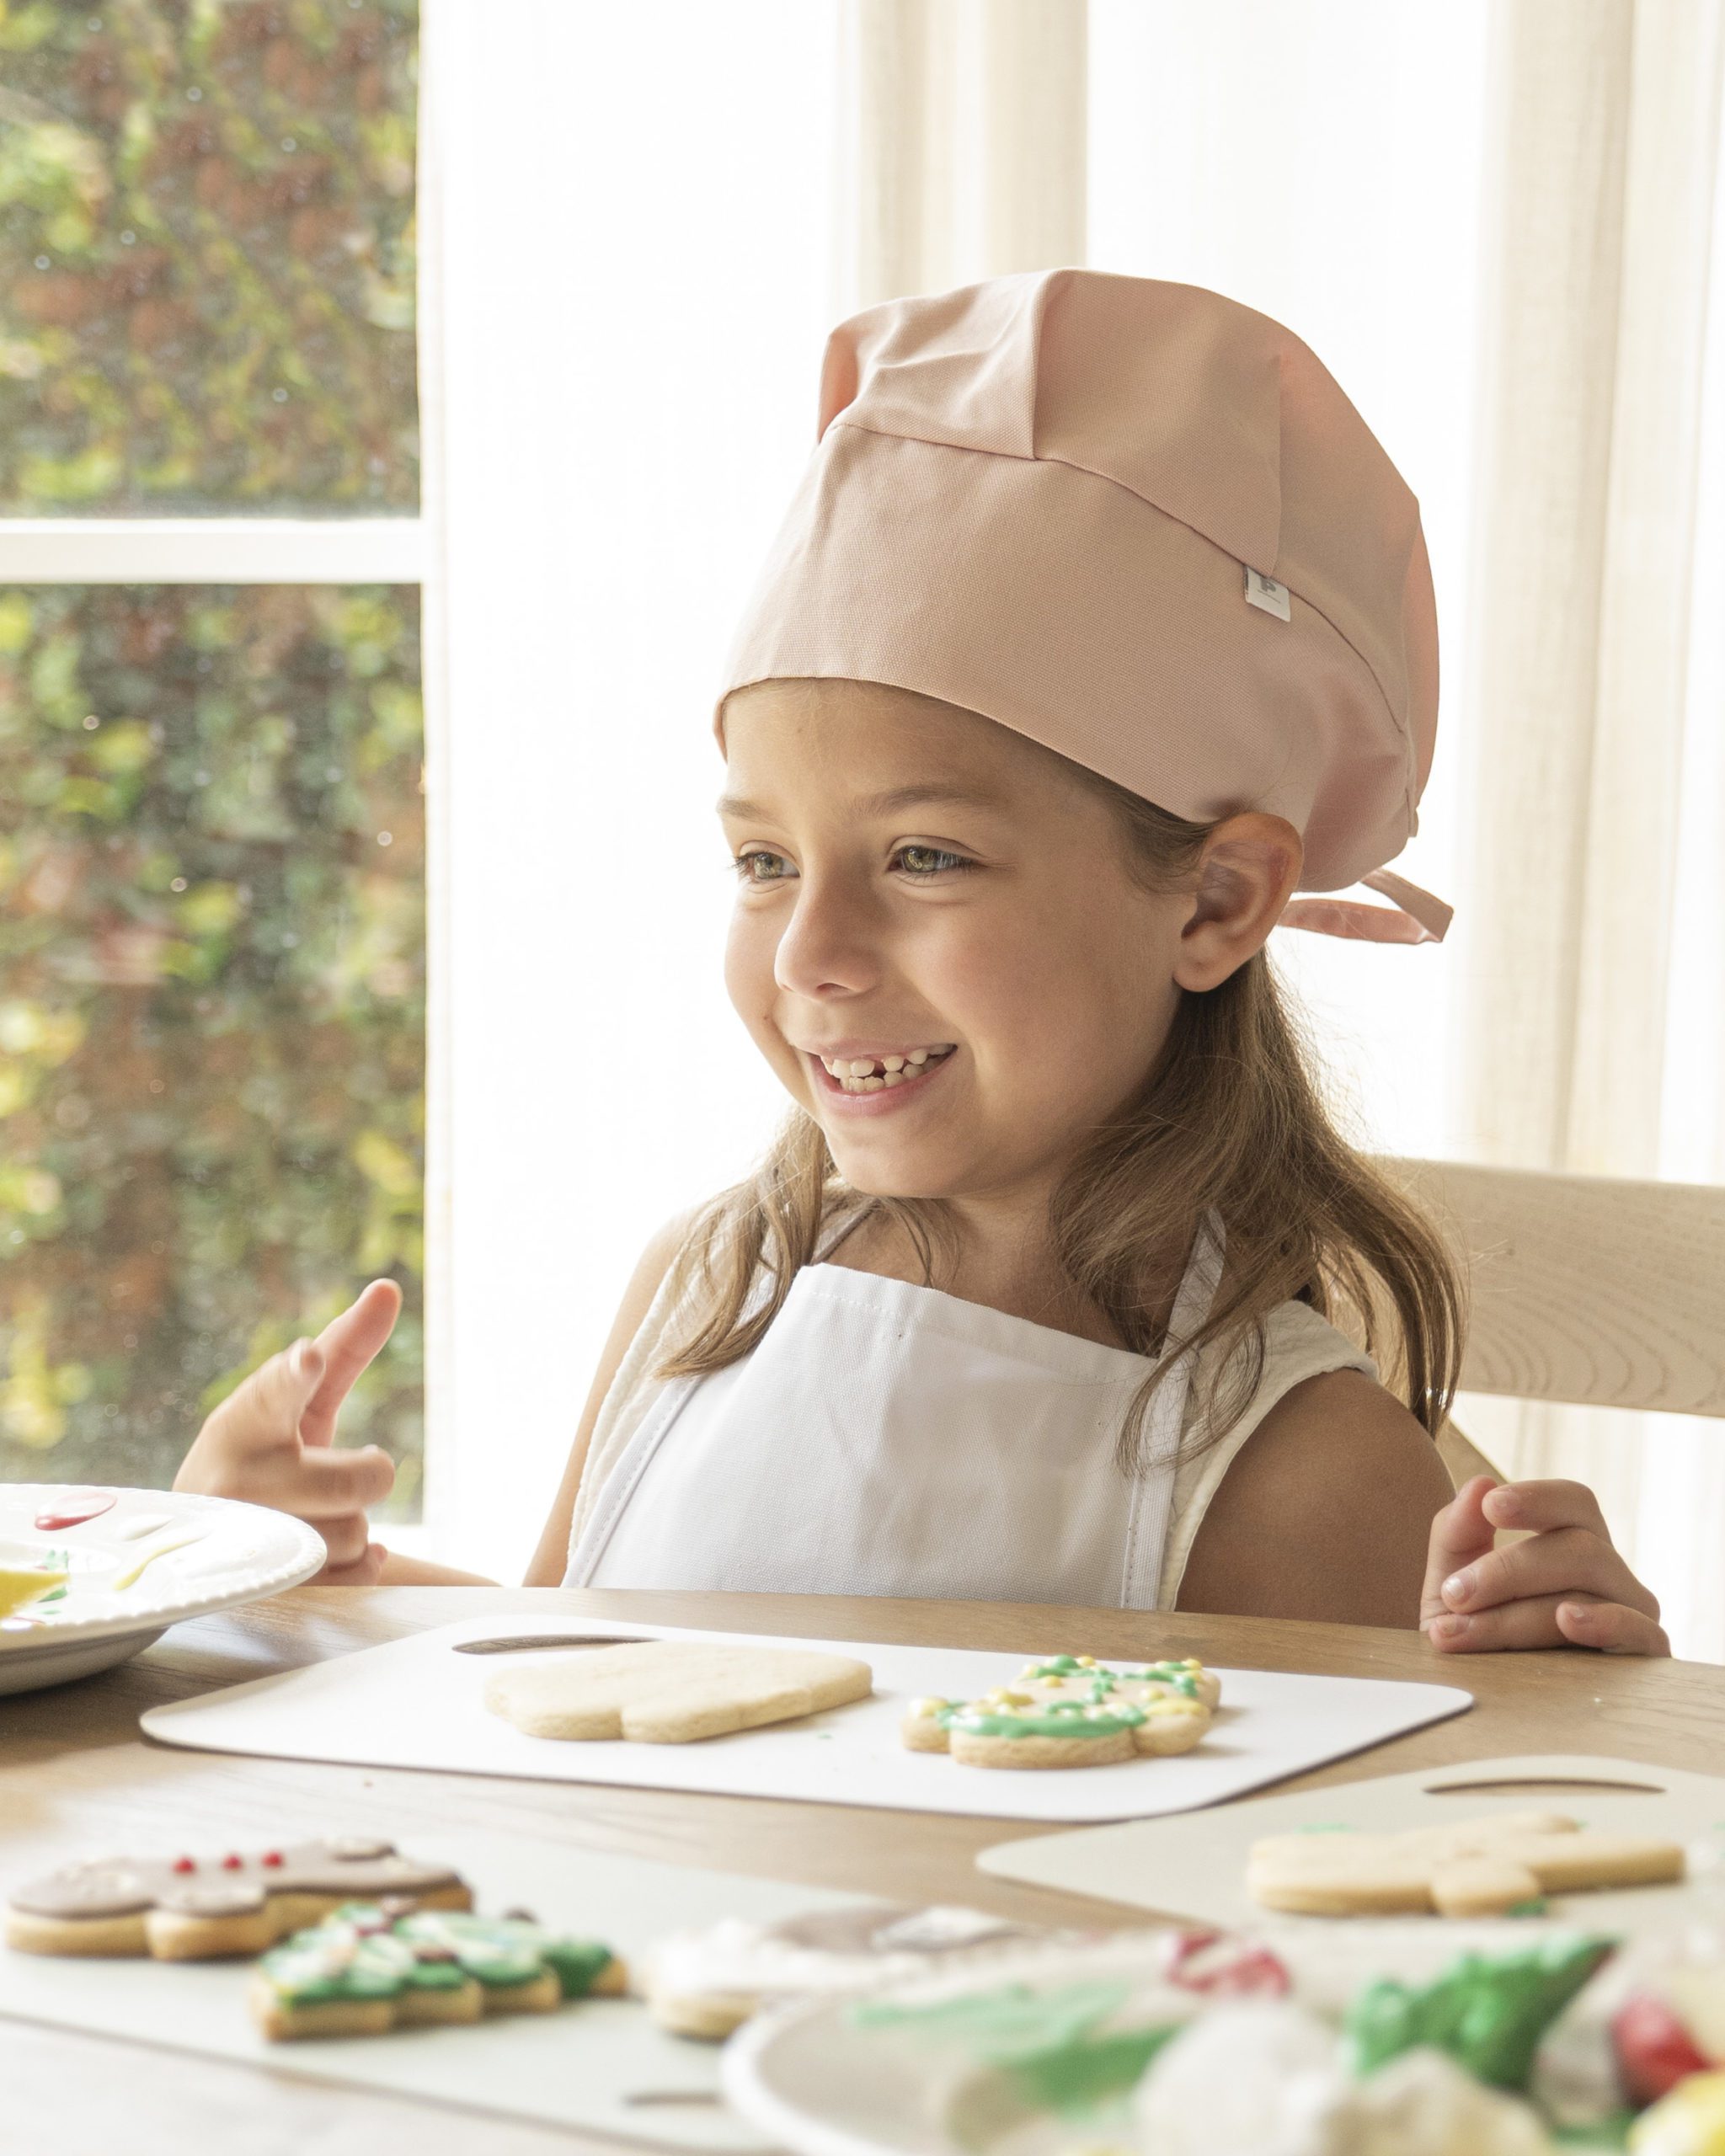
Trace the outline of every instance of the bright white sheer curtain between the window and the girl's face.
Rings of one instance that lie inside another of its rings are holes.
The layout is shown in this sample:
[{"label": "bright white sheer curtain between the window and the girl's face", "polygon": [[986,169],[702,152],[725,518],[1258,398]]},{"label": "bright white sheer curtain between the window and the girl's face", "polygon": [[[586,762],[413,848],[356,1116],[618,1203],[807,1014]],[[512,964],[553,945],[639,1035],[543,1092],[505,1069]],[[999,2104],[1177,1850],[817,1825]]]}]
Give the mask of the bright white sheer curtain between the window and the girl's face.
[{"label": "bright white sheer curtain between the window and the girl's face", "polygon": [[781,1089],[712,696],[809,453],[837,15],[427,0],[427,1526],[515,1580],[649,1233]]}]

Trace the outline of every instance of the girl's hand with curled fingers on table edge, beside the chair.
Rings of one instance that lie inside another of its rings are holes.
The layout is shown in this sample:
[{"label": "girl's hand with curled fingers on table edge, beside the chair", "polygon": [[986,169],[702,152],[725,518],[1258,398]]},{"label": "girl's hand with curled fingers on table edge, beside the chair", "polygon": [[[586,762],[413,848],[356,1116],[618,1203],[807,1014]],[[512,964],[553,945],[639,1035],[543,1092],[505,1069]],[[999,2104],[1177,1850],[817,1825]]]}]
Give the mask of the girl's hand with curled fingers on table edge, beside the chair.
[{"label": "girl's hand with curled fingers on table edge, beside the chair", "polygon": [[[1499,1526],[1531,1533],[1499,1550]],[[1443,1654],[1565,1645],[1671,1654],[1658,1602],[1613,1550],[1585,1483],[1490,1475],[1462,1483],[1432,1522],[1419,1621]]]}]

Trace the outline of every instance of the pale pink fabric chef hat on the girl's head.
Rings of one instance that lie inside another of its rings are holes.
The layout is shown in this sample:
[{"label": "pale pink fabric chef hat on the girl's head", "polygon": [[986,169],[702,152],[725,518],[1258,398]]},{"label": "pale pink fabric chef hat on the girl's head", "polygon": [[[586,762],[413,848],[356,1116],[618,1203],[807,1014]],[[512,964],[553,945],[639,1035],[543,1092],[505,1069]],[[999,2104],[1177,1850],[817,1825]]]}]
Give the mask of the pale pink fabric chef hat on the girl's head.
[{"label": "pale pink fabric chef hat on the girl's head", "polygon": [[839,675],[966,705],[1175,815],[1283,815],[1283,921],[1440,938],[1384,873],[1438,724],[1419,502],[1292,330],[1195,285],[1039,270],[826,345],[815,455],[724,696]]}]

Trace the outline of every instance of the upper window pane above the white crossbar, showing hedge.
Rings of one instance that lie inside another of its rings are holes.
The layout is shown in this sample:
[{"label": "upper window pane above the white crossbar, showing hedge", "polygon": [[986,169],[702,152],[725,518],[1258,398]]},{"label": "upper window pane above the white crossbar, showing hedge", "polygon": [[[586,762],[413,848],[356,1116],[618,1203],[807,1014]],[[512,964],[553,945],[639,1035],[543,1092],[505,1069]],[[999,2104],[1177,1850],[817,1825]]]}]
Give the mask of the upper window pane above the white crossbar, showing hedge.
[{"label": "upper window pane above the white crossbar, showing hedge", "polygon": [[0,11],[0,513],[416,507],[416,13]]}]

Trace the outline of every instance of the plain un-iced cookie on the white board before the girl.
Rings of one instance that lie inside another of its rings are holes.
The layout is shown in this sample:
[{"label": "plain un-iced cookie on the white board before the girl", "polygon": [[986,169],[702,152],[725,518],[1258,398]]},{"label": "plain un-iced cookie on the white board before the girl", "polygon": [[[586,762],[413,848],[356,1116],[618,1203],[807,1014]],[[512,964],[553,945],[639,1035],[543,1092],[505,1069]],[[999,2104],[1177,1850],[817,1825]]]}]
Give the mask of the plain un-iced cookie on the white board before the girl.
[{"label": "plain un-iced cookie on the white board before the girl", "polygon": [[802,1647],[649,1639],[500,1669],[485,1705],[530,1738],[692,1744],[865,1699],[867,1662]]}]

